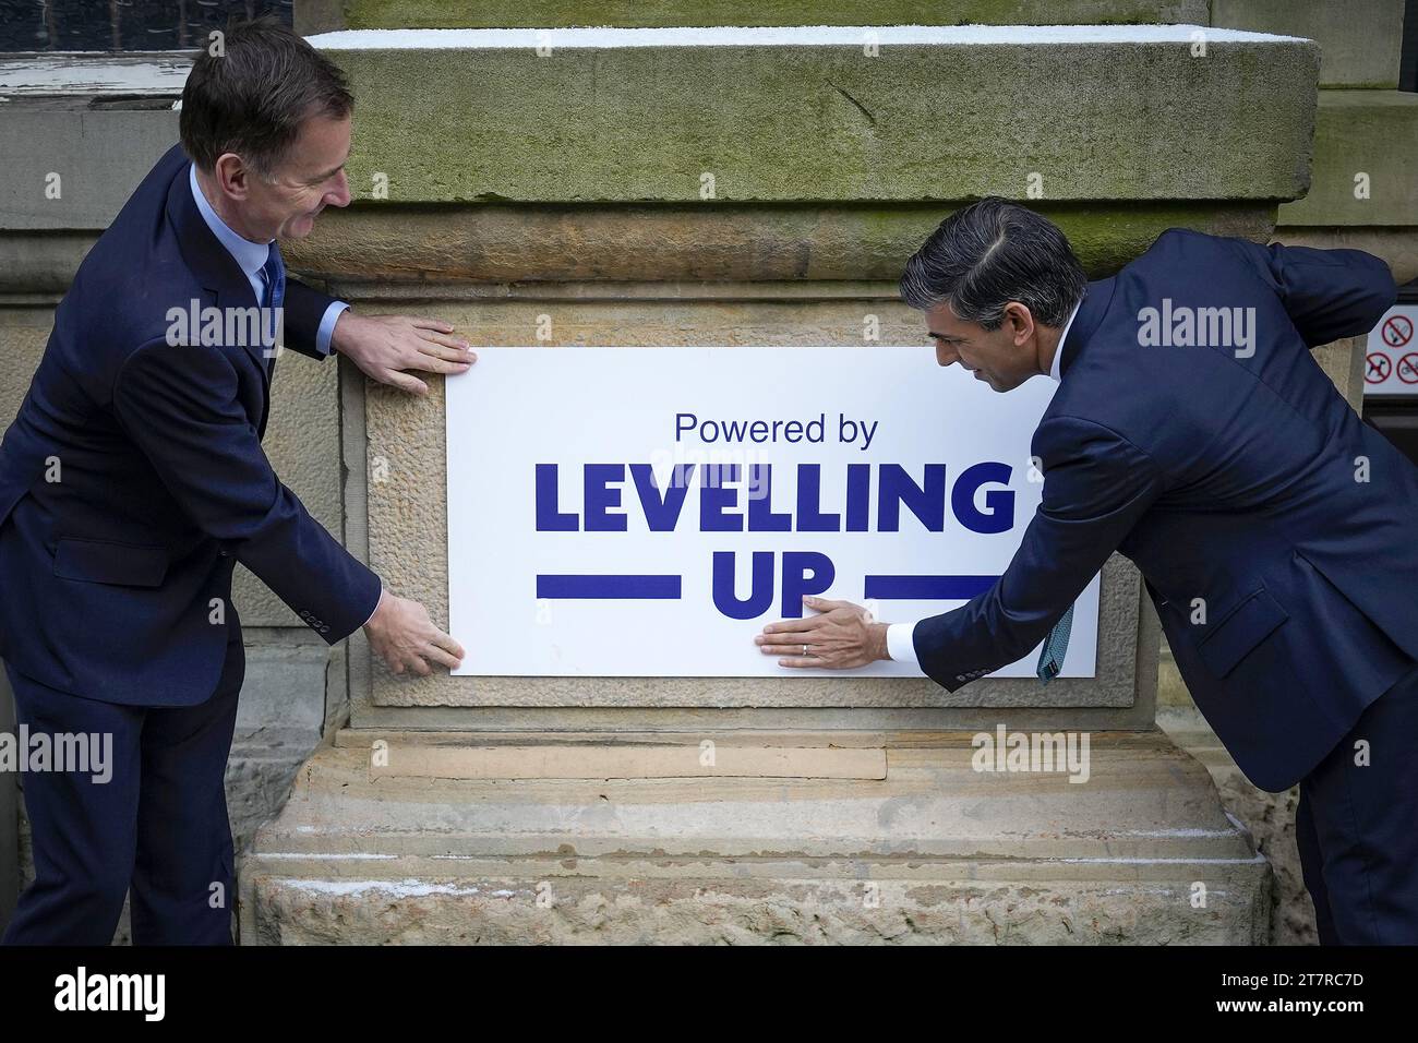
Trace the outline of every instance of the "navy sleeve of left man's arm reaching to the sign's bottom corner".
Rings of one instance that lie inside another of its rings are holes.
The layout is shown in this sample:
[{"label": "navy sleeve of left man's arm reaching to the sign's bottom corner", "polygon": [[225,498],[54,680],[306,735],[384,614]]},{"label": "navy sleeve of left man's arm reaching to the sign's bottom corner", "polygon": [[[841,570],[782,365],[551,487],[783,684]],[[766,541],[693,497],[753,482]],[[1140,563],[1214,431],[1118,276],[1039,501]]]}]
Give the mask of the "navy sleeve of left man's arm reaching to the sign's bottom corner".
[{"label": "navy sleeve of left man's arm reaching to the sign's bottom corner", "polygon": [[370,617],[380,580],[281,484],[217,349],[153,341],[123,363],[113,413],[191,521],[335,644]]}]

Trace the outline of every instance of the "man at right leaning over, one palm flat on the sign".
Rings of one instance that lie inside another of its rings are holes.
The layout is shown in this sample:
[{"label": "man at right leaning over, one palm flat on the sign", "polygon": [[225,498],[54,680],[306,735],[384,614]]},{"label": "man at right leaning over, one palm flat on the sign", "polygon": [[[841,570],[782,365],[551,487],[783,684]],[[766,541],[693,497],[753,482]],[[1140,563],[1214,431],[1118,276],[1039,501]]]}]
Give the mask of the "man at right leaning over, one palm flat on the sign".
[{"label": "man at right leaning over, one palm flat on the sign", "polygon": [[949,691],[1044,643],[1113,551],[1143,573],[1183,680],[1259,788],[1296,782],[1320,941],[1418,942],[1418,468],[1310,348],[1395,298],[1357,250],[1173,228],[1086,282],[1064,234],[986,199],[910,258],[936,359],[994,390],[1059,382],[1034,433],[1044,497],[998,582],[916,624],[847,602],[756,640],[790,667],[916,661]]}]

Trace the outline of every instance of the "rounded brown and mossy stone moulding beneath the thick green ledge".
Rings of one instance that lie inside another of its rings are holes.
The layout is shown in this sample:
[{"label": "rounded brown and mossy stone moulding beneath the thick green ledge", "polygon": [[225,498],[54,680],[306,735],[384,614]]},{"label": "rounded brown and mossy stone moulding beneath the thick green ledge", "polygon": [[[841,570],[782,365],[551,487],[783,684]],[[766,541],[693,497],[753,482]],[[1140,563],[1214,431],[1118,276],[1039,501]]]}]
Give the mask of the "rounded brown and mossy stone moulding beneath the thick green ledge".
[{"label": "rounded brown and mossy stone moulding beneath the thick green ledge", "polygon": [[[957,206],[359,203],[289,243],[286,261],[359,282],[895,281]],[[1093,275],[1116,271],[1171,227],[1263,243],[1275,226],[1265,203],[1027,206],[1064,230]]]}]

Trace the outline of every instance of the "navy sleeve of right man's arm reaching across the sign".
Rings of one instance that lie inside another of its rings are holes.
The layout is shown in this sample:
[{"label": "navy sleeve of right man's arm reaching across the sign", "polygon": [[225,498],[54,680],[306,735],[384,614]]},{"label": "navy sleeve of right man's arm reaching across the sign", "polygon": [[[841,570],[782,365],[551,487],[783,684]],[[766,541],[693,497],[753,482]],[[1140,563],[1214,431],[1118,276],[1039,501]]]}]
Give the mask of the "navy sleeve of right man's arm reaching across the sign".
[{"label": "navy sleeve of right man's arm reaching across the sign", "polygon": [[1034,433],[1044,498],[998,582],[912,633],[926,675],[947,691],[1014,663],[1042,641],[1163,492],[1151,457],[1078,417]]}]

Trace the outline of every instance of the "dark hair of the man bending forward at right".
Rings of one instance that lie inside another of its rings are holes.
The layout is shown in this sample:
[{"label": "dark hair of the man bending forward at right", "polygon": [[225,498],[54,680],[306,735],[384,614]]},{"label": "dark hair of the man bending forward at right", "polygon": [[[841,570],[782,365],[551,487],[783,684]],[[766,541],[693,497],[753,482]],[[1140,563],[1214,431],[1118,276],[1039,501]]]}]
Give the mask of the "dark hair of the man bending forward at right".
[{"label": "dark hair of the man bending forward at right", "polygon": [[900,277],[900,298],[927,311],[942,301],[966,322],[998,329],[1018,301],[1037,322],[1062,326],[1088,277],[1051,220],[998,196],[950,214]]}]

